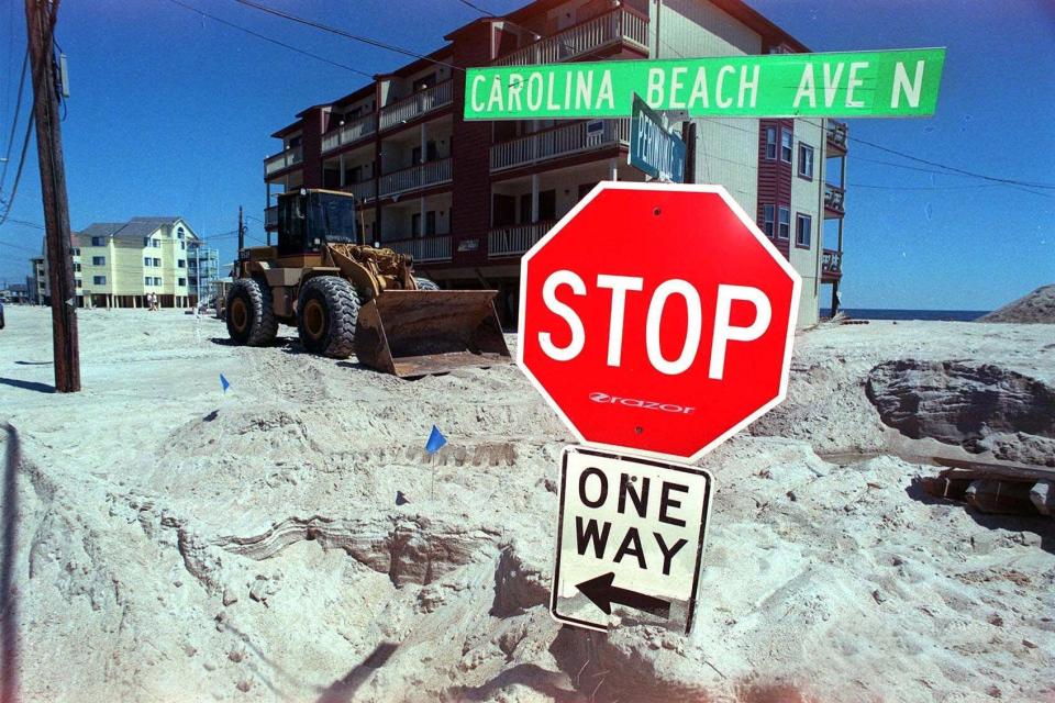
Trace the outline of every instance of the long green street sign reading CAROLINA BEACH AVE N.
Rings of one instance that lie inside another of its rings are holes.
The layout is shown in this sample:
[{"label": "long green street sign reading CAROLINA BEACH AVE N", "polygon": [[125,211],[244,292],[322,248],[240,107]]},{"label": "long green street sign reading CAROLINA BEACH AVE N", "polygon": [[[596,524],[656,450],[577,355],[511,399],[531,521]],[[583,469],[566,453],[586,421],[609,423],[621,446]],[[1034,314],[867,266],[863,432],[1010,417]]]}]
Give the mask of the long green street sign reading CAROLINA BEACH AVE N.
[{"label": "long green street sign reading CAROLINA BEACH AVE N", "polygon": [[920,118],[934,114],[944,48],[769,54],[469,68],[466,120],[629,118]]}]

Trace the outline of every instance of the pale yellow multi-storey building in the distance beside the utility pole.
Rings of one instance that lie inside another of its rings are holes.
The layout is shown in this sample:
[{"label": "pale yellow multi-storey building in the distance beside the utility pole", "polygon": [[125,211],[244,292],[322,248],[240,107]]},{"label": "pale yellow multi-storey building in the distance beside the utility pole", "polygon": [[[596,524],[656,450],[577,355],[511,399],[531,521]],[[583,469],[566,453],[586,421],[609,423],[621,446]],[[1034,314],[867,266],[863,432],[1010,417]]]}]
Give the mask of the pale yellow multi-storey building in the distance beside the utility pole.
[{"label": "pale yellow multi-storey building in the distance beside the utility pole", "polygon": [[[178,216],[88,225],[71,234],[78,306],[143,308],[148,293],[164,308],[193,305],[188,256],[200,244]],[[31,261],[41,300],[48,302],[47,259]]]}]

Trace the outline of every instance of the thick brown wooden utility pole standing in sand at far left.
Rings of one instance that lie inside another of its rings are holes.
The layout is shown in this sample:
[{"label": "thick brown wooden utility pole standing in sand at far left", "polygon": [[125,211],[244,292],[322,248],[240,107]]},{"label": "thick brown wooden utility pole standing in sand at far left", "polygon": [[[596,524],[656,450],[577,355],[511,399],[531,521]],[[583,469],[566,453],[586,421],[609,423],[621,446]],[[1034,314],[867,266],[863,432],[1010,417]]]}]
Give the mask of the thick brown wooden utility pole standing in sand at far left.
[{"label": "thick brown wooden utility pole standing in sand at far left", "polygon": [[70,256],[69,207],[63,167],[59,130],[57,64],[52,34],[59,0],[25,0],[30,65],[33,70],[33,115],[36,120],[36,154],[47,232],[47,280],[52,290],[52,346],[55,355],[55,390],[80,390],[80,350],[77,341],[77,289]]}]

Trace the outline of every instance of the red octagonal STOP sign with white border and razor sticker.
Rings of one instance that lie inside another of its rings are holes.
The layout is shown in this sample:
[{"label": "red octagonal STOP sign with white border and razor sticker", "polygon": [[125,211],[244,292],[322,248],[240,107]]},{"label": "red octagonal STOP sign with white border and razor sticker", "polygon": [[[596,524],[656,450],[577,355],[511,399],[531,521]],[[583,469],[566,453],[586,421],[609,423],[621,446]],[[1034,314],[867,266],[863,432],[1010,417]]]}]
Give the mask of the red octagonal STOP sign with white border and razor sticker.
[{"label": "red octagonal STOP sign with white border and razor sticker", "polygon": [[523,257],[518,364],[580,440],[695,460],[784,399],[800,287],[724,188],[602,182]]}]

